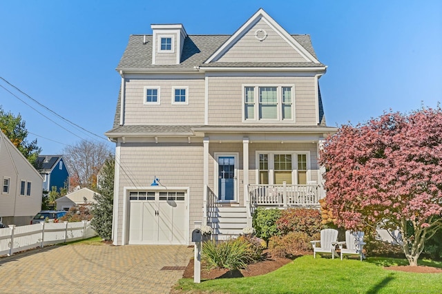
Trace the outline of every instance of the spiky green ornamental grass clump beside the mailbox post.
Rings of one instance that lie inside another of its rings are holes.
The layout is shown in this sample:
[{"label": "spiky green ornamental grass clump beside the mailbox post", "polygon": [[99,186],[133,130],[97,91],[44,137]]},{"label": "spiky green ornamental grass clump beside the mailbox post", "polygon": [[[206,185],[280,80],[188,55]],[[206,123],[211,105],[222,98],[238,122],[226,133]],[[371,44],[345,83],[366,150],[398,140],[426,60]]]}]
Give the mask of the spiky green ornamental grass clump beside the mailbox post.
[{"label": "spiky green ornamental grass clump beside the mailbox post", "polygon": [[207,269],[247,269],[254,255],[250,242],[242,238],[202,244],[202,262]]}]

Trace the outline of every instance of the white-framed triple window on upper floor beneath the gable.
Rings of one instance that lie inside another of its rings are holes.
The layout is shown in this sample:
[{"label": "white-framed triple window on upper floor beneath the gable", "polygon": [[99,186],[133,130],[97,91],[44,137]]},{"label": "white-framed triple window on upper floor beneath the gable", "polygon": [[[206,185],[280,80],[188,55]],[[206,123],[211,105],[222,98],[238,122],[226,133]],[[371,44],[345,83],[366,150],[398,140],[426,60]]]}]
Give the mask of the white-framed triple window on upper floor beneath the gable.
[{"label": "white-framed triple window on upper floor beneath the gable", "polygon": [[244,121],[294,120],[294,85],[244,86]]}]

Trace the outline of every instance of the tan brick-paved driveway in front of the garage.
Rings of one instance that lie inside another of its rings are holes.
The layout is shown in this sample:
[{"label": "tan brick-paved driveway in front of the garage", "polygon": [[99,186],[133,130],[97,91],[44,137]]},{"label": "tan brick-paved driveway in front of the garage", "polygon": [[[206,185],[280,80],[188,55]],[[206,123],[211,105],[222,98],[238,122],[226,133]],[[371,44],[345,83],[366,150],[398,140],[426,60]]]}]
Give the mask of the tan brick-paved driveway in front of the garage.
[{"label": "tan brick-paved driveway in front of the garage", "polygon": [[50,246],[0,258],[0,293],[169,293],[192,256],[187,246]]}]

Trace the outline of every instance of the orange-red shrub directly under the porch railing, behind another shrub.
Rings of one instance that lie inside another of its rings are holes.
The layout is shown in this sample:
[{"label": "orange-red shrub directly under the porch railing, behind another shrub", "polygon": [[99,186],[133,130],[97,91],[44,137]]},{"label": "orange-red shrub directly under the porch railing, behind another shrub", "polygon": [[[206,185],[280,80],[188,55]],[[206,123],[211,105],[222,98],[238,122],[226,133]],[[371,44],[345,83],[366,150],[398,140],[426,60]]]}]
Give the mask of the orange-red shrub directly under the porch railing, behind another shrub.
[{"label": "orange-red shrub directly under the porch railing, behind another shrub", "polygon": [[302,232],[311,236],[321,229],[321,216],[318,209],[290,208],[281,212],[276,228],[283,234]]}]

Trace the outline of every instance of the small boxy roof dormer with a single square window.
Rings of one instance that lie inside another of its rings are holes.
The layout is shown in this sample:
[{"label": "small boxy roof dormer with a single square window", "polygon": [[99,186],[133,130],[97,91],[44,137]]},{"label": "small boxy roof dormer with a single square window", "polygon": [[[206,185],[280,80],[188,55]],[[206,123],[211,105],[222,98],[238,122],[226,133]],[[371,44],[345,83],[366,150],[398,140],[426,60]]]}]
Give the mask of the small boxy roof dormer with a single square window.
[{"label": "small boxy roof dormer with a single square window", "polygon": [[180,64],[186,30],[182,24],[151,25],[152,64]]}]

